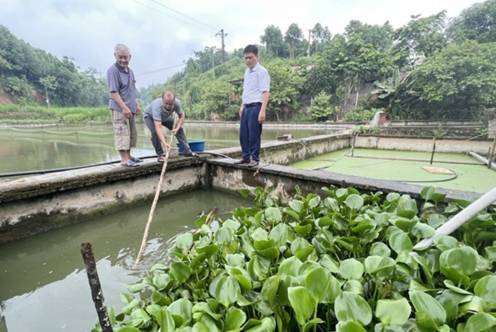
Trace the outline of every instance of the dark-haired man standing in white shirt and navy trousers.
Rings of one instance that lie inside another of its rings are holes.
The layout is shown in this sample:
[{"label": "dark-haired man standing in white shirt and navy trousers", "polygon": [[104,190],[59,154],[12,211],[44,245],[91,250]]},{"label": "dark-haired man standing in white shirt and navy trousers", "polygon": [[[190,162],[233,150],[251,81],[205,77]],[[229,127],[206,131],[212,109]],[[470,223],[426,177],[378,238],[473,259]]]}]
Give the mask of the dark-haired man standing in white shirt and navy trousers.
[{"label": "dark-haired man standing in white shirt and navy trousers", "polygon": [[255,45],[248,45],[244,54],[248,68],[245,71],[243,104],[240,107],[242,155],[235,164],[256,167],[260,161],[260,136],[269,101],[270,76],[267,69],[258,63],[258,48]]}]

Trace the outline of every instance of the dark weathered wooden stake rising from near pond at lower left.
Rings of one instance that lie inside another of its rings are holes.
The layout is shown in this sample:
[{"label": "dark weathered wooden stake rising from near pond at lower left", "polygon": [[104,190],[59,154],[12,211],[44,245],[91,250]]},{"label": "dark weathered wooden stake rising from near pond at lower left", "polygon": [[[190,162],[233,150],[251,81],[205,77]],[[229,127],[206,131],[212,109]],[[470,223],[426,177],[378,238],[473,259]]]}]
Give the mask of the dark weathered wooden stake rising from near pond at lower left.
[{"label": "dark weathered wooden stake rising from near pond at lower left", "polygon": [[96,264],[95,264],[95,256],[93,255],[93,249],[91,248],[91,244],[89,243],[81,244],[81,255],[83,256],[84,267],[86,268],[86,274],[88,275],[88,282],[90,283],[91,297],[93,298],[93,303],[95,304],[95,309],[98,314],[98,320],[100,321],[100,326],[102,328],[102,331],[112,332],[109,313],[107,312],[107,307],[105,306],[102,285],[100,284],[100,279],[98,278],[98,271],[96,270]]}]

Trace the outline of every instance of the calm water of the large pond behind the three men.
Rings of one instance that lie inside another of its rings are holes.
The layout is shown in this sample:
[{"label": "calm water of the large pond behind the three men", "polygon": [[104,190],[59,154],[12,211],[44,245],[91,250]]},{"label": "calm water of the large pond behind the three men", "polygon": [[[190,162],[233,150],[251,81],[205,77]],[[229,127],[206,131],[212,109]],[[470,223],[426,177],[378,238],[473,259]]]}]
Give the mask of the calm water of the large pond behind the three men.
[{"label": "calm water of the large pond behind the three men", "polygon": [[[237,127],[185,125],[189,140],[204,139],[205,149],[239,146]],[[292,133],[296,138],[329,133],[329,129],[264,128],[262,142]],[[81,166],[119,160],[108,125],[52,126],[46,128],[0,128],[0,172]],[[146,125],[139,124],[135,156],[155,151]]]}]

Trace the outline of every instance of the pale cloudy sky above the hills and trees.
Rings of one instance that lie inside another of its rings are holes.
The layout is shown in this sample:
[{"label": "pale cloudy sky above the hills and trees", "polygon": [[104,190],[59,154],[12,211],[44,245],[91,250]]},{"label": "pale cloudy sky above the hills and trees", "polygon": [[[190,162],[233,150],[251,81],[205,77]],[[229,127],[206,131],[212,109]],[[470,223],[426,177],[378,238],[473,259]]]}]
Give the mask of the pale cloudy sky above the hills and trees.
[{"label": "pale cloudy sky above the hills and trees", "polygon": [[[72,56],[82,70],[102,75],[115,61],[117,43],[126,44],[137,85],[164,83],[181,70],[192,51],[221,47],[215,34],[224,29],[226,49],[260,43],[271,24],[282,33],[291,23],[308,30],[327,25],[334,35],[352,19],[369,24],[389,21],[398,28],[410,15],[429,16],[446,9],[459,15],[473,0],[0,0],[0,24],[18,38],[59,58]],[[308,32],[305,34],[308,35]],[[308,38],[308,37],[307,37]]]}]

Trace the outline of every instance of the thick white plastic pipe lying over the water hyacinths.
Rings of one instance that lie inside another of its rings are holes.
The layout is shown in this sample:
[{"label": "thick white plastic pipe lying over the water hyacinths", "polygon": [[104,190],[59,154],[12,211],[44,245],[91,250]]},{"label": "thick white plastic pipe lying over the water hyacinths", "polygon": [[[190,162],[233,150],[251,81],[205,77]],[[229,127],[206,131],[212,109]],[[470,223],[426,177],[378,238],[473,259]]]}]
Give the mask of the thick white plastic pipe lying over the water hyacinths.
[{"label": "thick white plastic pipe lying over the water hyacinths", "polygon": [[447,221],[445,224],[443,224],[441,227],[437,228],[434,232],[434,235],[432,237],[429,237],[427,239],[423,239],[419,243],[417,243],[413,249],[419,250],[419,249],[424,249],[429,247],[433,242],[434,238],[437,235],[449,235],[452,232],[454,232],[456,229],[458,229],[461,225],[463,225],[465,222],[469,221],[477,215],[479,212],[482,210],[486,209],[488,206],[496,202],[496,187],[493,188],[491,191],[488,191],[481,197],[479,197],[475,202],[470,204],[468,207],[463,209],[461,212],[459,212],[457,215],[455,215],[453,218],[451,218],[449,221]]}]

